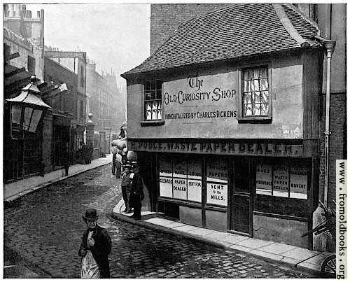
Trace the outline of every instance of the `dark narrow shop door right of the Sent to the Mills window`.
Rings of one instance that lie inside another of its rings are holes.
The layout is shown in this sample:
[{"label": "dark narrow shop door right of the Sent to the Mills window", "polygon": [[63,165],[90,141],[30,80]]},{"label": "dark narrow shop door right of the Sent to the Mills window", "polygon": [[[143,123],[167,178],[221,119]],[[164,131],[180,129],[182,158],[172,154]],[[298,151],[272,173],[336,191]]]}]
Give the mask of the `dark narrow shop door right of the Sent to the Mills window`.
[{"label": "dark narrow shop door right of the Sent to the Mills window", "polygon": [[231,230],[252,235],[252,174],[248,160],[235,160],[233,164],[233,190],[231,201]]}]

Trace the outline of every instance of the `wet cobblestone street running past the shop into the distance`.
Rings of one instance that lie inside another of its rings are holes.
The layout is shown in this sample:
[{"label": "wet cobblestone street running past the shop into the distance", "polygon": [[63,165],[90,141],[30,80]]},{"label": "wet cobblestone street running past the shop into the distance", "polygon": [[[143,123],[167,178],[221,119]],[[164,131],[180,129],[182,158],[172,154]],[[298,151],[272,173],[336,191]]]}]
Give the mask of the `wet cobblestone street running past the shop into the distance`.
[{"label": "wet cobblestone street running past the shop into the distance", "polygon": [[[105,166],[67,178],[5,206],[4,248],[41,278],[78,278],[87,207],[112,238],[112,278],[311,278],[282,265],[193,243],[190,239],[110,218],[121,199],[120,180]],[[5,277],[6,278],[6,277]]]}]

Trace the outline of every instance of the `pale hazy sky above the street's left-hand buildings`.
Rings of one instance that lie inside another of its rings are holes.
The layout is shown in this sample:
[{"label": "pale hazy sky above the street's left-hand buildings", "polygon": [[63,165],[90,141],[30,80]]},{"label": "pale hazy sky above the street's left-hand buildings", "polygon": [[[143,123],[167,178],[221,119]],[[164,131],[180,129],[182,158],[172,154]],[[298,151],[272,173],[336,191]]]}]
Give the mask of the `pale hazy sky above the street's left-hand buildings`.
[{"label": "pale hazy sky above the street's left-hand buildings", "polygon": [[98,73],[116,73],[119,86],[126,88],[120,74],[150,55],[149,3],[35,3],[26,8],[31,17],[44,10],[46,46],[86,52]]}]

